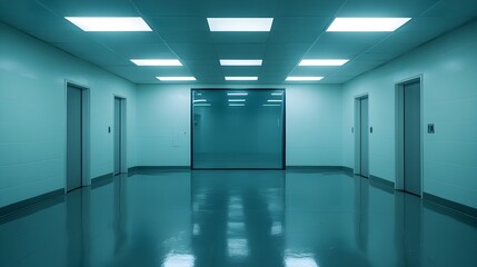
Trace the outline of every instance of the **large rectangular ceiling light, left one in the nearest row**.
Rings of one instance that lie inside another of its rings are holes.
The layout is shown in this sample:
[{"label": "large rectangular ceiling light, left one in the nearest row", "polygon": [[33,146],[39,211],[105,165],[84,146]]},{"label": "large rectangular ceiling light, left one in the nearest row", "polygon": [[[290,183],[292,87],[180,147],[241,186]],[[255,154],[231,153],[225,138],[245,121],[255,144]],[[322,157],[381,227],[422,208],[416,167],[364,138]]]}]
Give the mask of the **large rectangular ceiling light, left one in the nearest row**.
[{"label": "large rectangular ceiling light, left one in the nearest row", "polygon": [[64,17],[83,31],[152,31],[140,17]]}]

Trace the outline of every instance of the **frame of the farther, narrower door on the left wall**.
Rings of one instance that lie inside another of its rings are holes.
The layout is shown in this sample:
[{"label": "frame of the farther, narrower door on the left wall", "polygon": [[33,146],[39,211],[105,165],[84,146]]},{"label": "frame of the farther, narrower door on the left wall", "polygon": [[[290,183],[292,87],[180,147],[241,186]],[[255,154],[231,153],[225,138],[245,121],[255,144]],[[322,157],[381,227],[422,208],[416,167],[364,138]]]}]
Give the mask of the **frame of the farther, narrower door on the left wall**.
[{"label": "frame of the farther, narrower door on the left wall", "polygon": [[[120,155],[120,157],[121,157],[121,162],[120,162],[120,166],[119,166],[119,174],[126,174],[126,172],[128,172],[128,168],[127,168],[127,127],[126,127],[126,123],[127,123],[127,119],[126,119],[126,116],[127,116],[127,98],[125,97],[125,96],[121,96],[121,95],[117,95],[117,93],[113,93],[112,95],[112,130],[115,131],[116,130],[116,119],[115,119],[115,112],[116,112],[116,110],[115,110],[115,99],[119,99],[120,100],[120,102],[121,102],[121,106],[120,106],[120,112],[121,112],[121,116],[120,116],[120,119],[121,119],[121,129],[119,129],[120,130],[120,134],[119,134],[119,136],[120,136],[120,139],[121,139],[121,148],[120,148],[120,150],[121,150],[121,155]],[[112,175],[115,175],[115,160],[116,160],[116,151],[115,151],[115,132],[111,132],[112,134]]]}]

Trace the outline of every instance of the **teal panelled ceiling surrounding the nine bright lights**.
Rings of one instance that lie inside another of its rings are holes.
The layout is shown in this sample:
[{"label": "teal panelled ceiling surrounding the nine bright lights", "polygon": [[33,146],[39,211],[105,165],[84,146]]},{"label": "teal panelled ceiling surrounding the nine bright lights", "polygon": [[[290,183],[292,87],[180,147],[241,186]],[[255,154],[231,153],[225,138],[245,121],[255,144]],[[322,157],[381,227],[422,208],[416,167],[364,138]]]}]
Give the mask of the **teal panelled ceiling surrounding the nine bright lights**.
[{"label": "teal panelled ceiling surrounding the nine bright lights", "polygon": [[[64,17],[142,17],[151,32],[85,32]],[[395,32],[326,32],[336,17],[413,18]],[[274,18],[270,32],[210,32],[207,18]],[[477,18],[475,0],[16,0],[0,21],[135,83],[195,76],[193,83],[289,83],[324,76],[344,83]],[[138,67],[130,59],[179,59],[183,67]],[[298,67],[301,59],[347,58],[341,67]],[[221,67],[219,59],[262,59]],[[225,81],[258,76],[258,81]],[[169,82],[170,83],[170,82]],[[190,83],[190,82],[189,82]]]}]

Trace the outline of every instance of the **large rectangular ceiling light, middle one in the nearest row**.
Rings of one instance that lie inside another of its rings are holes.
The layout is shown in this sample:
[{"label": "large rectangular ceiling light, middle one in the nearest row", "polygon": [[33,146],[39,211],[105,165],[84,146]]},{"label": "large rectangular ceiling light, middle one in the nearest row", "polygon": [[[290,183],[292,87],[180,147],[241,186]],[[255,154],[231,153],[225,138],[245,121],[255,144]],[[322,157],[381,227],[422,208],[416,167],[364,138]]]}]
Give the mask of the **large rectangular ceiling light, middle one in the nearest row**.
[{"label": "large rectangular ceiling light, middle one in the nearest row", "polygon": [[207,18],[210,31],[270,31],[272,18]]}]

